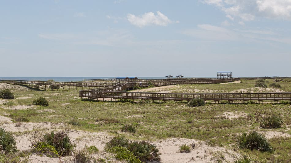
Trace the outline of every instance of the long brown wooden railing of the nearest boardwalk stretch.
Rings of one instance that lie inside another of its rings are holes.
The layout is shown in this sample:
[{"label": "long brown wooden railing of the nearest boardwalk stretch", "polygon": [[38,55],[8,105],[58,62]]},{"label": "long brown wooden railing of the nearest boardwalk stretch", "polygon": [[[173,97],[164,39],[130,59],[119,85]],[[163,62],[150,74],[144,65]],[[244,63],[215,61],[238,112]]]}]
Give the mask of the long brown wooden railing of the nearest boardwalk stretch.
[{"label": "long brown wooden railing of the nearest boardwalk stretch", "polygon": [[291,92],[270,93],[158,93],[158,92],[121,92],[121,91],[90,91],[81,90],[81,98],[113,98],[113,99],[140,99],[140,100],[191,100],[200,97],[211,101],[248,101],[248,100],[290,100]]}]

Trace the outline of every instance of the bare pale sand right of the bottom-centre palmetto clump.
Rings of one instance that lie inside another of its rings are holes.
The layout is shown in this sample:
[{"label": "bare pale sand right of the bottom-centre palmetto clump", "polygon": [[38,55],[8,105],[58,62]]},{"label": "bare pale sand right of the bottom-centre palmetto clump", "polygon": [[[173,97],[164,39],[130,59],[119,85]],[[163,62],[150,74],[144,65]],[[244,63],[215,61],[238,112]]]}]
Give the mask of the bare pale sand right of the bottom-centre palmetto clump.
[{"label": "bare pale sand right of the bottom-centre palmetto clump", "polygon": [[[239,156],[232,150],[223,147],[210,147],[205,142],[194,139],[169,138],[153,142],[158,146],[161,152],[161,162],[217,162],[216,156],[221,153],[224,156],[222,161],[233,161]],[[189,153],[180,153],[179,147],[183,144],[190,145],[195,143],[195,148]]]}]

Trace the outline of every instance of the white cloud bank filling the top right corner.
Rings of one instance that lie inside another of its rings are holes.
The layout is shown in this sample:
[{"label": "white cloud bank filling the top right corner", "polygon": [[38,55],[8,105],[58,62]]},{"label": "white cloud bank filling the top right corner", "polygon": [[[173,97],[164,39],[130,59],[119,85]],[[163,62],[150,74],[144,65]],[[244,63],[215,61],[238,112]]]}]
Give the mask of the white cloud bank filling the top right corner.
[{"label": "white cloud bank filling the top right corner", "polygon": [[291,0],[202,0],[225,12],[230,20],[240,24],[256,17],[291,20]]}]

